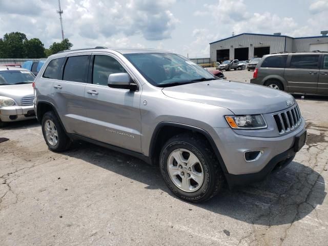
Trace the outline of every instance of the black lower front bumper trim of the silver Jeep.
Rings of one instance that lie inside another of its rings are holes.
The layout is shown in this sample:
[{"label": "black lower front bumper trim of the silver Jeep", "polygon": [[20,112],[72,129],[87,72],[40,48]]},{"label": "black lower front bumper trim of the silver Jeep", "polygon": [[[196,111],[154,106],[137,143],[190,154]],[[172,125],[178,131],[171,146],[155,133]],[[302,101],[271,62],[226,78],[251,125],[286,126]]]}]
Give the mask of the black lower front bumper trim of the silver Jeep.
[{"label": "black lower front bumper trim of the silver Jeep", "polygon": [[232,189],[236,186],[247,185],[249,183],[258,182],[263,180],[265,177],[268,176],[274,169],[282,169],[289,165],[295,157],[296,152],[294,148],[291,148],[279,155],[273,157],[268,164],[259,172],[257,173],[249,173],[249,174],[226,174],[227,182],[229,188]]}]

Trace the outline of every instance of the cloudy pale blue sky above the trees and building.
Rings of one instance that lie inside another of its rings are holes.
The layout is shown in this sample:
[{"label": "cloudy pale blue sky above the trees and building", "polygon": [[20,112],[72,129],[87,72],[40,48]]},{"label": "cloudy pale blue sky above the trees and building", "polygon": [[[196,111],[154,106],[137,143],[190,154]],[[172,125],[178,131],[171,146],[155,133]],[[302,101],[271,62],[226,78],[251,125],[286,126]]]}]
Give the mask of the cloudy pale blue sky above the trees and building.
[{"label": "cloudy pale blue sky above the trees and building", "polygon": [[[328,30],[328,0],[61,0],[73,48],[155,48],[209,57],[209,43],[243,32],[293,37]],[[60,42],[57,0],[0,0],[0,37]]]}]

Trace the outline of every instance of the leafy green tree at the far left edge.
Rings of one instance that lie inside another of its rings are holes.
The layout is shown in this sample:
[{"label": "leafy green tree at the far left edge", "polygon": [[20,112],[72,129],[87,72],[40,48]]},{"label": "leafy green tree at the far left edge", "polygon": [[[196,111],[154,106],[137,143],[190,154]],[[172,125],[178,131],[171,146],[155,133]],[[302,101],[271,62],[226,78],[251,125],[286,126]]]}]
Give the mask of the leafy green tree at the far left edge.
[{"label": "leafy green tree at the far left edge", "polygon": [[2,58],[25,58],[27,37],[21,32],[6,33],[2,42]]}]

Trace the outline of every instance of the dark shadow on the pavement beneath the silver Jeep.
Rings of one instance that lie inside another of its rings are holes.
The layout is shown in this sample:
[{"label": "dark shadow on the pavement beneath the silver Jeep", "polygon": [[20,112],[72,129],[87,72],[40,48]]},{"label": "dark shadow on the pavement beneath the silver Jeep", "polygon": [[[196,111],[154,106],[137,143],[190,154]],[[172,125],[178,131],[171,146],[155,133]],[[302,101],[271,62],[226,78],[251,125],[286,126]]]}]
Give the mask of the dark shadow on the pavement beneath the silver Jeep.
[{"label": "dark shadow on the pavement beneath the silver Jeep", "polygon": [[[146,189],[160,189],[173,196],[157,167],[85,142],[77,145],[78,148],[65,154],[104,168],[104,172],[109,170],[145,183]],[[262,182],[234,191],[223,189],[211,200],[194,206],[248,223],[274,226],[302,219],[322,204],[325,195],[323,177],[301,163],[292,162]]]}]

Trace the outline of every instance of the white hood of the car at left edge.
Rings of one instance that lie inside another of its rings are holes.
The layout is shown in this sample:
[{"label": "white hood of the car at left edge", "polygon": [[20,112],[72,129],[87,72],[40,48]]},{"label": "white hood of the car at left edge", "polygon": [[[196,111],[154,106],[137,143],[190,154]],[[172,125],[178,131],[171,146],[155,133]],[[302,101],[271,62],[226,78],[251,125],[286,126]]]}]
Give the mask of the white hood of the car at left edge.
[{"label": "white hood of the car at left edge", "polygon": [[32,83],[23,85],[0,86],[0,96],[13,98],[18,105],[24,96],[33,95]]}]

